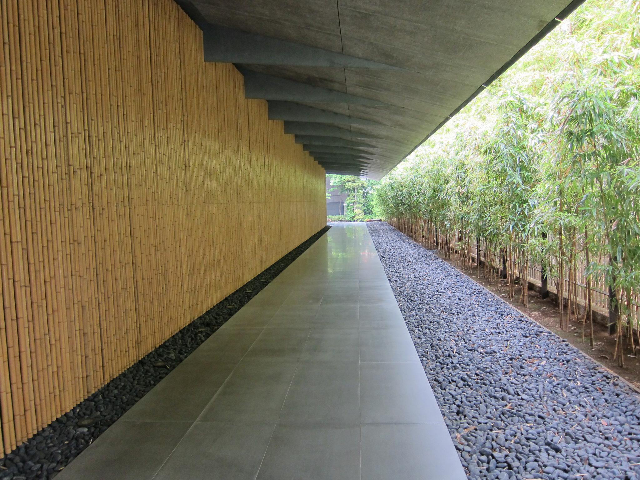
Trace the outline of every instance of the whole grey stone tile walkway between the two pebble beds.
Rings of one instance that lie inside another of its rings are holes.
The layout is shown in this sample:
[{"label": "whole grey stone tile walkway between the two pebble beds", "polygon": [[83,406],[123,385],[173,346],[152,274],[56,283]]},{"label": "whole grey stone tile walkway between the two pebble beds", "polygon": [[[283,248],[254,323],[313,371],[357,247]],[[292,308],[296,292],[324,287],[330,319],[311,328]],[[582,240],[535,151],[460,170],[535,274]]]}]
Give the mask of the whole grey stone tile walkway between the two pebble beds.
[{"label": "whole grey stone tile walkway between the two pebble beds", "polygon": [[335,225],[57,477],[463,480],[364,223]]}]

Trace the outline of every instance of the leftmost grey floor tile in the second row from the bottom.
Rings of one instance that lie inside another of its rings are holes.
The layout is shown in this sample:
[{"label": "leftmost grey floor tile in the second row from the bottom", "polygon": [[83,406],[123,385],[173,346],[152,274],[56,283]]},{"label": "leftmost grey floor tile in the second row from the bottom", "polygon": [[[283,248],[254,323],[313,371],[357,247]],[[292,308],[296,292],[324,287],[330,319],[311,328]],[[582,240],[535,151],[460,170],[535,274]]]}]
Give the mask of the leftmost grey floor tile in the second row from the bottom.
[{"label": "leftmost grey floor tile in the second row from the bottom", "polygon": [[195,421],[234,367],[236,363],[182,362],[125,413],[122,421]]}]

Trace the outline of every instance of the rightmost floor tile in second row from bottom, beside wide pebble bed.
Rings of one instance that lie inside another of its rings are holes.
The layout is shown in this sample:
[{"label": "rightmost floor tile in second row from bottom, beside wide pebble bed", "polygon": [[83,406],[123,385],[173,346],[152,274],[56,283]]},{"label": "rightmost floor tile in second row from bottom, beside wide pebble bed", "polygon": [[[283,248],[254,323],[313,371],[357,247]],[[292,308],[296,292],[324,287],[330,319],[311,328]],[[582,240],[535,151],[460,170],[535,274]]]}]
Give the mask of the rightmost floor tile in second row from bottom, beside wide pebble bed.
[{"label": "rightmost floor tile in second row from bottom, beside wide pebble bed", "polygon": [[360,364],[362,423],[443,423],[419,362]]}]

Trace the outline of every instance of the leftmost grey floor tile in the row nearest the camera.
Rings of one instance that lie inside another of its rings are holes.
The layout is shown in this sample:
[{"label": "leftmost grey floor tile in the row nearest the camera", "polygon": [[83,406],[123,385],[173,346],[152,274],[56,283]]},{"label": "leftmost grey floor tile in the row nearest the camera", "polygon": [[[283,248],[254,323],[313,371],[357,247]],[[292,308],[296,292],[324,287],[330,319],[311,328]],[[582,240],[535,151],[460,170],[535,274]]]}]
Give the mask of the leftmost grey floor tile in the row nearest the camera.
[{"label": "leftmost grey floor tile in the row nearest the camera", "polygon": [[148,480],[191,422],[116,422],[72,461],[59,480]]}]

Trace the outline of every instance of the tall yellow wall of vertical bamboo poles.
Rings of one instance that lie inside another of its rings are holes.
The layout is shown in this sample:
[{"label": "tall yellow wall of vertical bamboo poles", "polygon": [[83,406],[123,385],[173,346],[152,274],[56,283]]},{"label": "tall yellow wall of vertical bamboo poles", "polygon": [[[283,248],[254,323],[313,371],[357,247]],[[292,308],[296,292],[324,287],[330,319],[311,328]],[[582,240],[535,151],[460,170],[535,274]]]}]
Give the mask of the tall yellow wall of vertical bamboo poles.
[{"label": "tall yellow wall of vertical bamboo poles", "polygon": [[3,0],[2,450],[326,224],[324,170],[172,0]]}]

